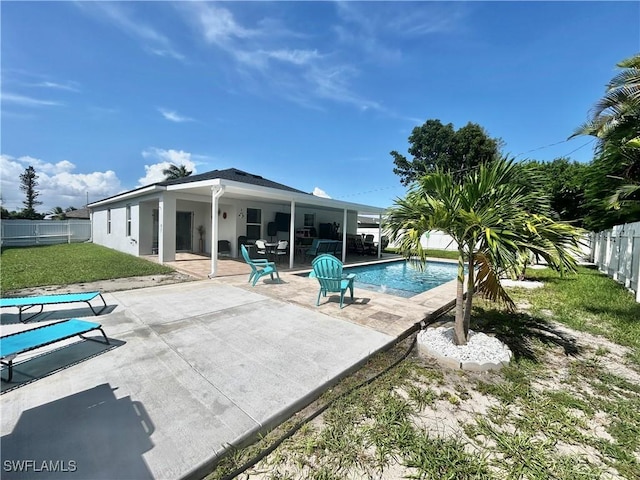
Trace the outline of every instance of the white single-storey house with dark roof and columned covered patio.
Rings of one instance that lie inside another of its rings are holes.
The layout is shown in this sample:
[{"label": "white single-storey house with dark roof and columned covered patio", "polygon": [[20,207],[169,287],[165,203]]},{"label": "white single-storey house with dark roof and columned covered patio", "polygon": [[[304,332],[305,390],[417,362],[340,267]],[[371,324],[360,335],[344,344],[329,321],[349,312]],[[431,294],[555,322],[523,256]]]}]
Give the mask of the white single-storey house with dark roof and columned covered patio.
[{"label": "white single-storey house with dark roof and columned covered patio", "polygon": [[[343,240],[356,234],[358,215],[385,209],[330,198],[268,180],[235,168],[213,170],[154,183],[88,205],[93,242],[132,255],[157,254],[161,263],[176,252],[211,256],[217,268],[218,245],[226,240],[238,256],[239,237],[249,241]],[[378,221],[379,222],[379,221]],[[295,249],[290,248],[293,267]]]}]

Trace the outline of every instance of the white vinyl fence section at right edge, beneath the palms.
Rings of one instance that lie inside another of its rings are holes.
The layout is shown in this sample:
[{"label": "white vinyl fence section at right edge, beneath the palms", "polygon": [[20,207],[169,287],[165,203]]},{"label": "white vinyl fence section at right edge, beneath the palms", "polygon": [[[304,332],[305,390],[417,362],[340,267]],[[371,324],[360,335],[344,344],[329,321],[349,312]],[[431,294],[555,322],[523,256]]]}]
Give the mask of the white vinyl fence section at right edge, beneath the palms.
[{"label": "white vinyl fence section at right edge, beneath the palms", "polygon": [[591,260],[600,271],[633,290],[640,302],[640,222],[591,234]]}]

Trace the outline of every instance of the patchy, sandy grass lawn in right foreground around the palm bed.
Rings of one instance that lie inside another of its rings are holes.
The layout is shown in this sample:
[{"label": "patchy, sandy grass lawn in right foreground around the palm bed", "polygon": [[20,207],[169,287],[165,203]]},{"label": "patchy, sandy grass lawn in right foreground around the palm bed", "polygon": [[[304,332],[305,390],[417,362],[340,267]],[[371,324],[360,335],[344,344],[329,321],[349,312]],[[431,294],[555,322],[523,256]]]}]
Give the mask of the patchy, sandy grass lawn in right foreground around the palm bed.
[{"label": "patchy, sandy grass lawn in right foreground around the palm bed", "polygon": [[403,358],[399,345],[224,458],[208,479],[283,437],[237,478],[640,479],[640,305],[593,269],[563,278],[528,270],[528,278],[545,287],[510,290],[515,313],[474,300],[471,328],[507,343],[509,366],[451,370],[415,353]]}]

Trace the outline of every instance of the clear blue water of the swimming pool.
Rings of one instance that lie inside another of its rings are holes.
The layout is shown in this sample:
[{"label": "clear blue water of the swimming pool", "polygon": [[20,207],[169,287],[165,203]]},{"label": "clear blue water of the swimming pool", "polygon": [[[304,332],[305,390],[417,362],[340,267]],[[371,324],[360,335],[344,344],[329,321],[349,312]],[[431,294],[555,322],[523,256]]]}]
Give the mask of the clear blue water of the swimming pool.
[{"label": "clear blue water of the swimming pool", "polygon": [[348,267],[345,273],[355,273],[355,286],[399,297],[413,297],[443,283],[455,280],[457,263],[427,262],[418,271],[405,261]]}]

